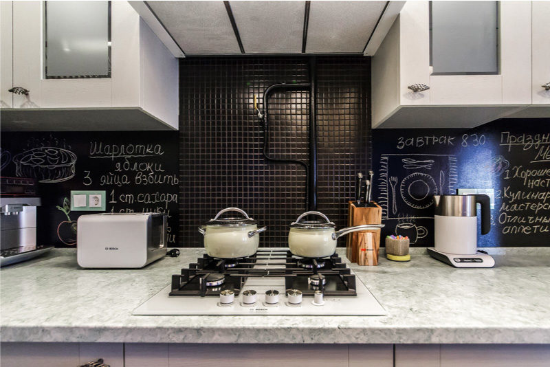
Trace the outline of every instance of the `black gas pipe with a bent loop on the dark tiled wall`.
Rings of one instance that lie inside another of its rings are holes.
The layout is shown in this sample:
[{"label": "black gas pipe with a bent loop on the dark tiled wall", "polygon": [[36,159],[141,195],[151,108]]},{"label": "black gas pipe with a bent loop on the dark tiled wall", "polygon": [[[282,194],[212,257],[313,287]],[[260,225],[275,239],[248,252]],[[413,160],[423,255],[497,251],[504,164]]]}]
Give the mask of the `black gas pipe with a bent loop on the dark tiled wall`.
[{"label": "black gas pipe with a bent loop on the dark tiled wall", "polygon": [[[279,159],[269,155],[269,105],[270,96],[278,90],[283,91],[303,91],[309,89],[309,164],[299,159]],[[274,84],[267,87],[263,92],[264,112],[258,111],[258,116],[263,122],[264,140],[263,156],[268,162],[280,164],[298,164],[305,168],[306,175],[306,210],[317,210],[317,76],[316,76],[316,58],[311,56],[309,59],[309,82],[293,84]]]}]

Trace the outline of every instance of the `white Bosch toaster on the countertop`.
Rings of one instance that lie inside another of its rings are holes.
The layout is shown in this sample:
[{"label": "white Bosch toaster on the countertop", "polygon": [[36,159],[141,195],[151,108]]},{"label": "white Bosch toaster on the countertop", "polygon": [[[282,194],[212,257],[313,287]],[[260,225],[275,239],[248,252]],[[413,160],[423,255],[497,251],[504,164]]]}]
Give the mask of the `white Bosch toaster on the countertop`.
[{"label": "white Bosch toaster on the countertop", "polygon": [[77,221],[81,267],[137,268],[166,255],[166,214],[101,213]]}]

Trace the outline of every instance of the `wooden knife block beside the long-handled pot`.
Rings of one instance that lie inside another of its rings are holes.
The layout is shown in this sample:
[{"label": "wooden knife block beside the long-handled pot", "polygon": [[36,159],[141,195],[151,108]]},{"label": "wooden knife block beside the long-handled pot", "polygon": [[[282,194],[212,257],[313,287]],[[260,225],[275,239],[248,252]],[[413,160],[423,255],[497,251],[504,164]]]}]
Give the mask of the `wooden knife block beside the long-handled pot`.
[{"label": "wooden knife block beside the long-handled pot", "polygon": [[[376,206],[358,208],[353,201],[349,201],[348,226],[382,223],[382,208],[374,204]],[[347,236],[346,256],[352,263],[378,265],[380,230],[351,232]]]}]

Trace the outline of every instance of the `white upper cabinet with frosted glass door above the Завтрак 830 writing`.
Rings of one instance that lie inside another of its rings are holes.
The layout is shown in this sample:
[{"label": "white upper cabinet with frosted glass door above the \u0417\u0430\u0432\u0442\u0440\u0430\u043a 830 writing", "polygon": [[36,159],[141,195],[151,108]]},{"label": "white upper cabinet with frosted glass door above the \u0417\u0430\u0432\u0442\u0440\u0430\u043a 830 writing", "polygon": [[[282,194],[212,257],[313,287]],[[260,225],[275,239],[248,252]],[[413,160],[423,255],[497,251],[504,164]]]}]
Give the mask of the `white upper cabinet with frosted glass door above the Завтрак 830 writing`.
[{"label": "white upper cabinet with frosted glass door above the \u0417\u0430\u0432\u0442\u0440\u0430\u043a 830 writing", "polygon": [[530,1],[407,1],[373,56],[373,127],[477,126],[529,106],[531,84]]}]

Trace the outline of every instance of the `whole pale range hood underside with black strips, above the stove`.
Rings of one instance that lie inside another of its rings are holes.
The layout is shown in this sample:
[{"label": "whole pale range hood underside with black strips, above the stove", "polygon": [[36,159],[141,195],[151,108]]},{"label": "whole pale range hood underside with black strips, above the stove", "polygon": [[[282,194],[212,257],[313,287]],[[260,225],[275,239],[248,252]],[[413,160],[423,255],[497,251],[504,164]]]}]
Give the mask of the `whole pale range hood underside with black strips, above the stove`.
[{"label": "whole pale range hood underside with black strips, above the stove", "polygon": [[405,1],[129,1],[176,57],[375,54]]}]

